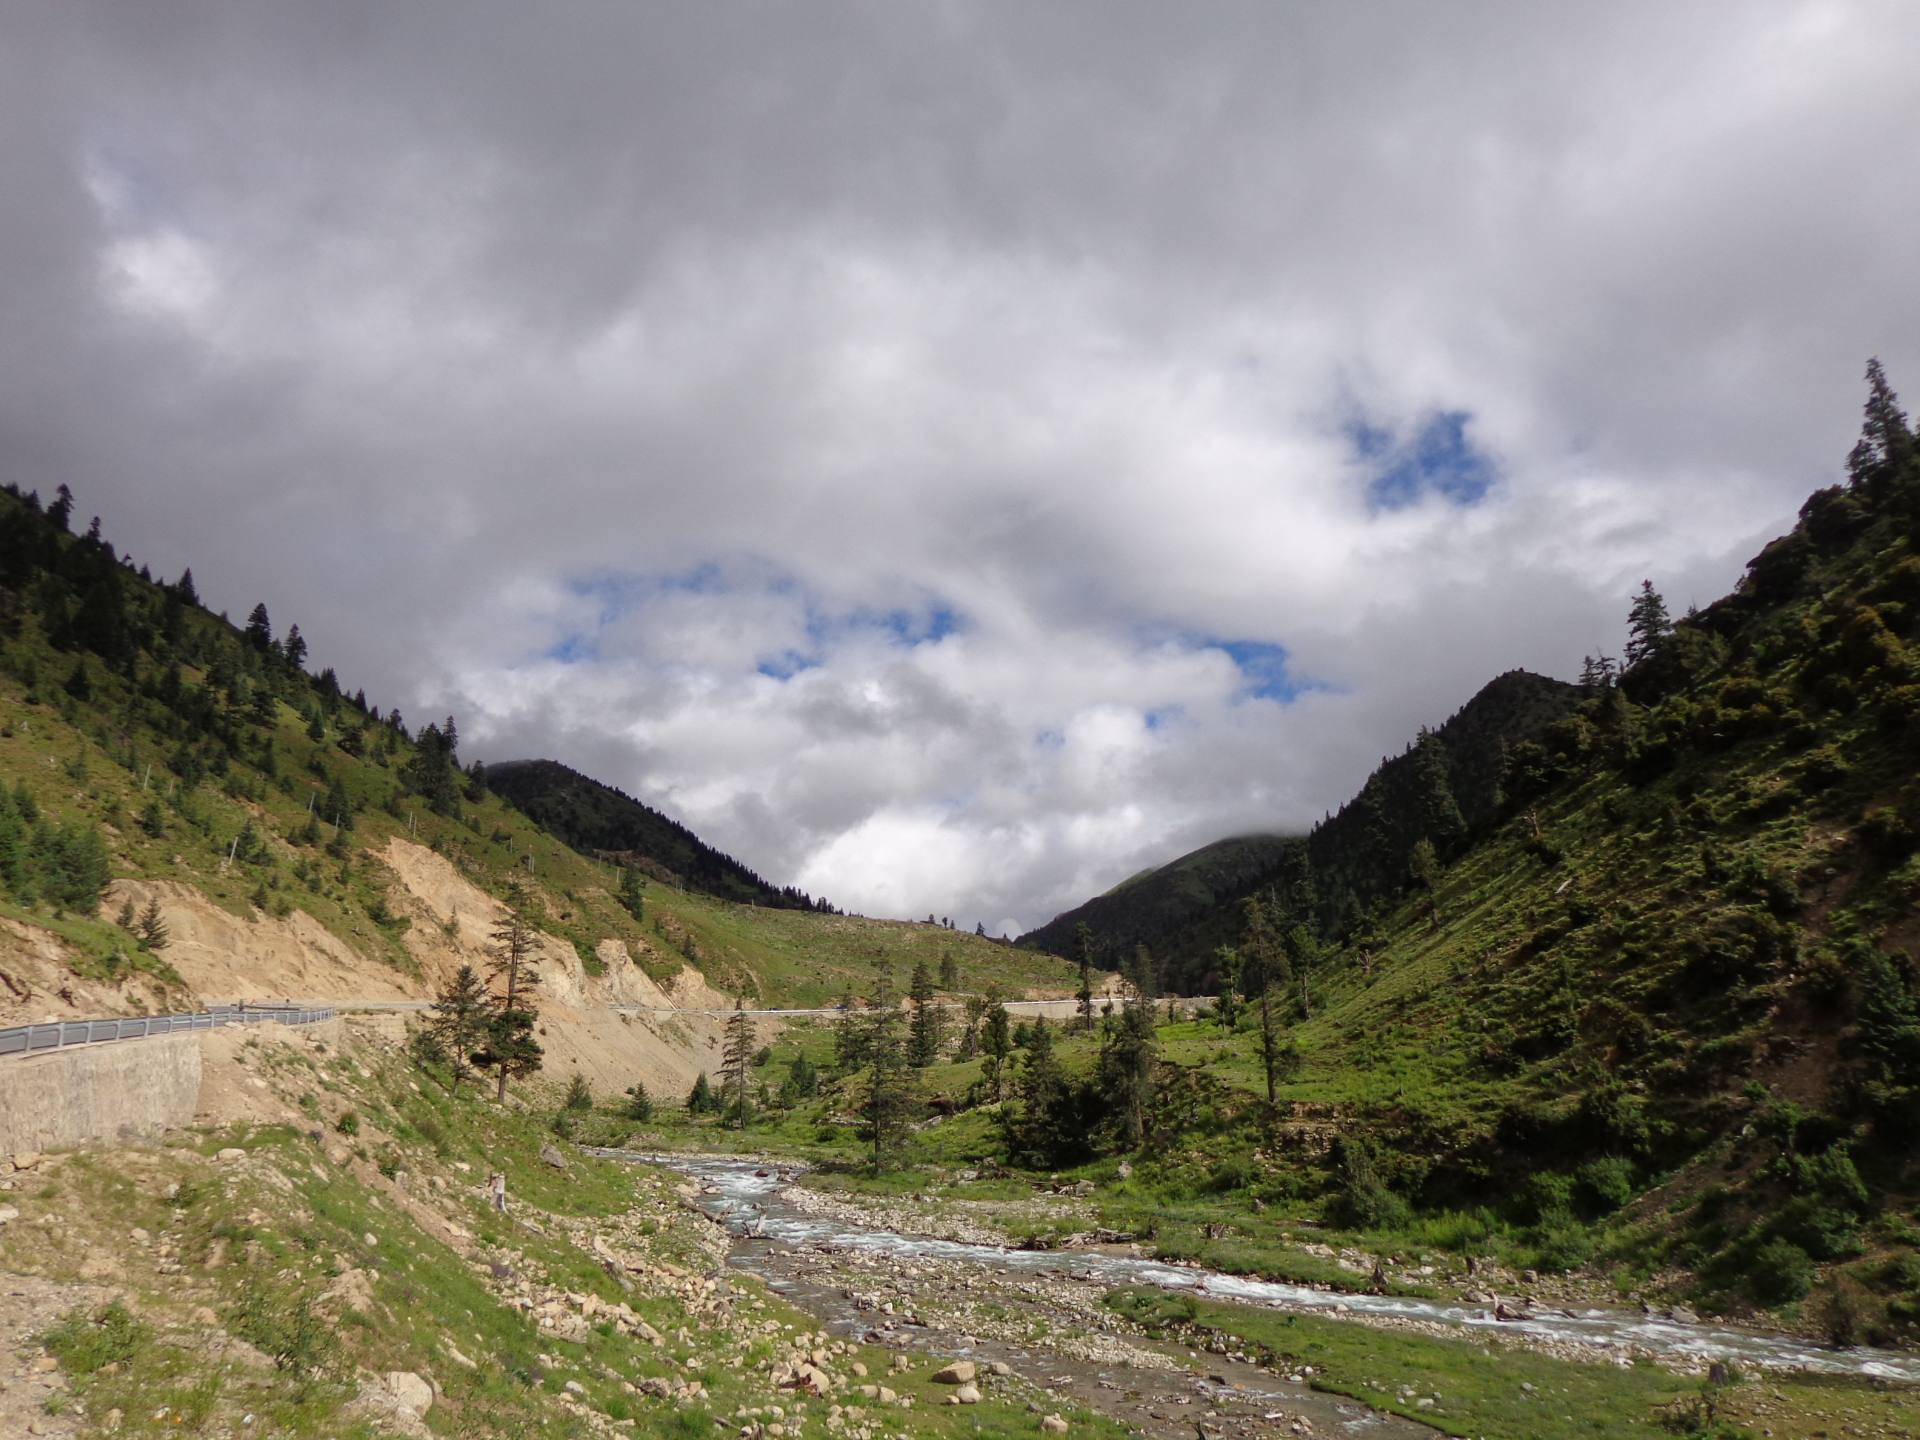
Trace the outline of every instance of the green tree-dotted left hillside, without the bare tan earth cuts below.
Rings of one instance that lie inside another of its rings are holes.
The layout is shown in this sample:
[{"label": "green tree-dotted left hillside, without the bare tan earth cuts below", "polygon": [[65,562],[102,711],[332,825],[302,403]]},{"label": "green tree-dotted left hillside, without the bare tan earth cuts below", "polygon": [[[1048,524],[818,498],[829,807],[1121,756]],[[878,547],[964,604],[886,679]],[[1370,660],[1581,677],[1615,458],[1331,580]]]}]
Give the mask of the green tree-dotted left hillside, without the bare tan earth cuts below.
[{"label": "green tree-dotted left hillside, without the bare tan earth cuts below", "polygon": [[916,960],[948,952],[962,987],[1068,983],[1054,958],[975,935],[660,881],[636,916],[616,866],[459,766],[451,716],[409,728],[378,714],[332,672],[309,676],[298,628],[276,632],[265,607],[232,626],[198,605],[190,574],[154,582],[98,534],[69,534],[60,511],[0,492],[0,916],[56,931],[92,979],[169,977],[165,948],[98,912],[117,876],[192,885],[240,918],[300,910],[409,972],[396,876],[378,860],[401,835],[495,895],[532,876],[540,927],[593,973],[612,937],[655,977],[691,962],[766,1004],[831,1002],[864,989],[876,960],[904,983]]}]

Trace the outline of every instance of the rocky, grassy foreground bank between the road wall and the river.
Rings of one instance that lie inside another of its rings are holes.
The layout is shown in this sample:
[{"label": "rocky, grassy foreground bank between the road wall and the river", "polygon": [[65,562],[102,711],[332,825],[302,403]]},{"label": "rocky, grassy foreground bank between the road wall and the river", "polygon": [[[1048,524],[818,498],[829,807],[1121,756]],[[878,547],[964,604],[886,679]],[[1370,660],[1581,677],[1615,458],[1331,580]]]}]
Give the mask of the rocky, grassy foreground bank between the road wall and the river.
[{"label": "rocky, grassy foreground bank between the road wall and the river", "polygon": [[[549,1116],[449,1094],[378,1023],[328,1031],[209,1058],[252,1117],[12,1177],[0,1334],[56,1371],[0,1392],[0,1432],[693,1440],[824,1434],[866,1404],[889,1434],[1035,1434],[1037,1386],[945,1405],[939,1359],[829,1338],[730,1269],[678,1177],[570,1146],[557,1169]],[[781,1384],[795,1357],[829,1394]],[[862,1396],[870,1371],[899,1398]],[[394,1373],[422,1419],[382,1398]]]}]

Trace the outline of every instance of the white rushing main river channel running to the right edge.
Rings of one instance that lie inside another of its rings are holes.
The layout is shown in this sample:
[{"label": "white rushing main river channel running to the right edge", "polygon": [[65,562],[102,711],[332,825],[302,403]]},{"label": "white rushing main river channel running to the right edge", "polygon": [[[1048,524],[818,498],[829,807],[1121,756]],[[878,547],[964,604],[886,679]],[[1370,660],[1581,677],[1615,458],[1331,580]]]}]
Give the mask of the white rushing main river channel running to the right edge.
[{"label": "white rushing main river channel running to the right edge", "polygon": [[1390,1315],[1475,1331],[1521,1331],[1572,1340],[1596,1350],[1645,1352],[1676,1359],[1726,1359],[1743,1367],[1799,1369],[1826,1375],[1872,1375],[1920,1384],[1920,1356],[1895,1350],[1816,1346],[1791,1334],[1747,1331],[1715,1323],[1680,1323],[1622,1309],[1549,1309],[1526,1319],[1496,1319],[1490,1306],[1415,1300],[1407,1296],[1344,1294],[1302,1284],[1252,1281],[1221,1275],[1196,1265],[1171,1265],[1139,1256],[1094,1250],[1012,1250],[993,1244],[964,1244],[922,1235],[870,1229],[849,1219],[814,1215],[781,1196],[797,1167],[753,1160],[707,1156],[641,1156],[603,1152],[626,1160],[645,1160],[689,1175],[703,1185],[701,1204],[737,1235],[789,1250],[881,1254],[900,1260],[941,1260],[983,1265],[1002,1273],[1066,1273],[1104,1286],[1150,1284],[1164,1290],[1190,1290],[1219,1300],[1273,1306],[1334,1317]]}]

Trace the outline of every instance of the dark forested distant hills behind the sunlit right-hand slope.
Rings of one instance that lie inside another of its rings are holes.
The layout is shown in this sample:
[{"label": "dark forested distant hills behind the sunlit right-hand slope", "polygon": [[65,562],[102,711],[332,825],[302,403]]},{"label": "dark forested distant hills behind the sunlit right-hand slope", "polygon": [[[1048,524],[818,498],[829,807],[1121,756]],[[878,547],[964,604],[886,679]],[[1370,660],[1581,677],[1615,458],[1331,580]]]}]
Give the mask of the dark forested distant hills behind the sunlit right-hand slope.
[{"label": "dark forested distant hills behind the sunlit right-hand slope", "polygon": [[1576,685],[1509,670],[1488,682],[1438,730],[1382,758],[1338,814],[1308,835],[1223,839],[1114,887],[1020,937],[1020,945],[1073,954],[1079,927],[1112,962],[1144,945],[1171,987],[1219,987],[1219,948],[1240,931],[1240,902],[1269,889],[1311,891],[1315,922],[1352,931],[1371,906],[1396,895],[1421,837],[1450,849],[1480,835],[1501,801],[1509,745],[1540,735],[1580,701]]}]

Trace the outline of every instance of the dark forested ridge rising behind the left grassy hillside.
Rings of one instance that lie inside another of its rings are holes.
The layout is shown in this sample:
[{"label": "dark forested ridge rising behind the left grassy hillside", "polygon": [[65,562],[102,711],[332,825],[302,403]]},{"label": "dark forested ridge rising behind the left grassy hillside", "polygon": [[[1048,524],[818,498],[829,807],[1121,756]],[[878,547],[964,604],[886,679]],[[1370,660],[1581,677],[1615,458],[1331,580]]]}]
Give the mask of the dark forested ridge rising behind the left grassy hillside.
[{"label": "dark forested ridge rising behind the left grassy hillside", "polygon": [[833,908],[791,885],[766,883],[678,820],[559,760],[501,760],[486,766],[484,774],[492,791],[586,854],[639,866],[668,885],[691,887],[720,900],[785,910]]}]

